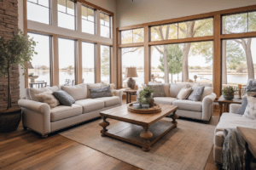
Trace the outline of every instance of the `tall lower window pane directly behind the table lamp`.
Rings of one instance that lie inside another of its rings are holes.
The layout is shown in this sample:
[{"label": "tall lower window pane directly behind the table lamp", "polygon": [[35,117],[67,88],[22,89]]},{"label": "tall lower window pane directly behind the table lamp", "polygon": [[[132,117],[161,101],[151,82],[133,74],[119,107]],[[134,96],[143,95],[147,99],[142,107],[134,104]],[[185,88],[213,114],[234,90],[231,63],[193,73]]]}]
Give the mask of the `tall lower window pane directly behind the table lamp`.
[{"label": "tall lower window pane directly behind the table lamp", "polygon": [[125,77],[126,67],[137,67],[137,76],[133,77],[139,88],[144,84],[144,48],[121,48],[122,56],[122,87],[127,87],[127,80],[129,77]]}]

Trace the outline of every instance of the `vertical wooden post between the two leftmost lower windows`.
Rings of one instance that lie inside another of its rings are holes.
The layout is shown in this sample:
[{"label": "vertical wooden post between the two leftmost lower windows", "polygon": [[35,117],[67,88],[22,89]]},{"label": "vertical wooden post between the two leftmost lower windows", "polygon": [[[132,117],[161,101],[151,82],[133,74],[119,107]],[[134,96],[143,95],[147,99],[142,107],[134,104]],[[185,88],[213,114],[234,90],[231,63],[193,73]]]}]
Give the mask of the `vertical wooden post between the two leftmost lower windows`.
[{"label": "vertical wooden post between the two leftmost lower windows", "polygon": [[53,35],[53,86],[59,85],[59,37]]}]

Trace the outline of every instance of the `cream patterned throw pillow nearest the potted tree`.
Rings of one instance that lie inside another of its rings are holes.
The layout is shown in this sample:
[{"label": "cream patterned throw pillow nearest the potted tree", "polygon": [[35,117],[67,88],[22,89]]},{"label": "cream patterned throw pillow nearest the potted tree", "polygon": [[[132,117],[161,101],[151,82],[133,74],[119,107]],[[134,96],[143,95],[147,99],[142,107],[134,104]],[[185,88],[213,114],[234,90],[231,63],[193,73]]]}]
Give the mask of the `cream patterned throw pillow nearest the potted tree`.
[{"label": "cream patterned throw pillow nearest the potted tree", "polygon": [[41,94],[36,94],[40,102],[46,103],[50,108],[55,108],[55,106],[60,105],[59,100],[55,99],[52,92],[44,92]]}]

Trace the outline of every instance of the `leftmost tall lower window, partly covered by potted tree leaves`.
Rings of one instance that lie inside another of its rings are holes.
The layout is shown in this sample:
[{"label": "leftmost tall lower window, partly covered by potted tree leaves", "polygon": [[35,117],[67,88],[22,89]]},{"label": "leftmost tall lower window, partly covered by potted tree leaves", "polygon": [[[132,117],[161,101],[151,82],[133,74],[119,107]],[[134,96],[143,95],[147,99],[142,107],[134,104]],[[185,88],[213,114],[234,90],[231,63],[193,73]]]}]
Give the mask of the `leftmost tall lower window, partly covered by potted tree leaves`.
[{"label": "leftmost tall lower window, partly covered by potted tree leaves", "polygon": [[51,37],[34,33],[28,33],[28,36],[37,42],[35,51],[38,52],[28,63],[28,81],[47,82],[50,86]]}]

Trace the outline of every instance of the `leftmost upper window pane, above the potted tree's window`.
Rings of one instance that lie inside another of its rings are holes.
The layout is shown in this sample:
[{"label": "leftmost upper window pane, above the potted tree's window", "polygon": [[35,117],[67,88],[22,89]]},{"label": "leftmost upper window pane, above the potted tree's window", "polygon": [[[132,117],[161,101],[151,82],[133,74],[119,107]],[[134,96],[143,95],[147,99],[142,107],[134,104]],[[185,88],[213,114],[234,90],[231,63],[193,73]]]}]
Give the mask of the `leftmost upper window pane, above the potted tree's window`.
[{"label": "leftmost upper window pane, above the potted tree's window", "polygon": [[50,1],[27,0],[27,20],[33,20],[44,24],[50,24]]}]

